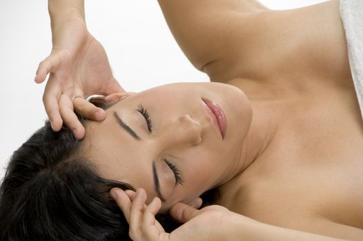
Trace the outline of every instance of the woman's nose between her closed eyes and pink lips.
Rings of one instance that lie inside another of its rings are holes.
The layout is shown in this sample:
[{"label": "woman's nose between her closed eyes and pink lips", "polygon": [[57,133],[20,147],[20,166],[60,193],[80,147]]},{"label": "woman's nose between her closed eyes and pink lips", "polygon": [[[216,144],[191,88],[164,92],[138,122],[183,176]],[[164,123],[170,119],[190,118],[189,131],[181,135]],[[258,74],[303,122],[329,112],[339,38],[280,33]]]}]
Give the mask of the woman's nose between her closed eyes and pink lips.
[{"label": "woman's nose between her closed eyes and pink lips", "polygon": [[202,142],[202,125],[185,114],[170,125],[167,136],[166,141],[169,145],[198,145]]}]

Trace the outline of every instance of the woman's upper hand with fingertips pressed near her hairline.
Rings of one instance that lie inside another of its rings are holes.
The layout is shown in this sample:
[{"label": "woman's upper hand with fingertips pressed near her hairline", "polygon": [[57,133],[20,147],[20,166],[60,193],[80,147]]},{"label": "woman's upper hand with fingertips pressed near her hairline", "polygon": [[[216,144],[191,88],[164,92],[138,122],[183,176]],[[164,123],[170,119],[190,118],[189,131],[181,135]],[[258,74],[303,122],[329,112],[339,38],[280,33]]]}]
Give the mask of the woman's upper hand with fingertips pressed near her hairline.
[{"label": "woman's upper hand with fingertips pressed near her hairline", "polygon": [[103,46],[88,32],[84,19],[72,16],[52,28],[52,52],[39,64],[36,83],[50,74],[43,103],[52,125],[59,131],[65,123],[79,139],[85,129],[75,112],[95,121],[106,117],[103,109],[86,98],[92,94],[124,92],[112,76]]}]

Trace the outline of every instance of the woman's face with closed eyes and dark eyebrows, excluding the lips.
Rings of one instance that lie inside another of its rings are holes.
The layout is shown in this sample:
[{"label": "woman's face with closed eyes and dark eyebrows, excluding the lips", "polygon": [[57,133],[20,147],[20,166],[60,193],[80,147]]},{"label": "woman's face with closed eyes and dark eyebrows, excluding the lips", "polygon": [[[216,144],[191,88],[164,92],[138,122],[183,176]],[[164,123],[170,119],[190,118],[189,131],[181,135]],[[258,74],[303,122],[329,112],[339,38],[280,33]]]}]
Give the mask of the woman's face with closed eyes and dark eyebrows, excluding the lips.
[{"label": "woman's face with closed eyes and dark eyebrows, excluding the lips", "polygon": [[[224,137],[203,100],[222,107]],[[86,126],[86,157],[102,177],[144,188],[148,202],[159,196],[161,210],[176,202],[190,203],[240,171],[252,118],[244,93],[222,83],[155,87],[122,98],[106,114],[104,121]]]}]

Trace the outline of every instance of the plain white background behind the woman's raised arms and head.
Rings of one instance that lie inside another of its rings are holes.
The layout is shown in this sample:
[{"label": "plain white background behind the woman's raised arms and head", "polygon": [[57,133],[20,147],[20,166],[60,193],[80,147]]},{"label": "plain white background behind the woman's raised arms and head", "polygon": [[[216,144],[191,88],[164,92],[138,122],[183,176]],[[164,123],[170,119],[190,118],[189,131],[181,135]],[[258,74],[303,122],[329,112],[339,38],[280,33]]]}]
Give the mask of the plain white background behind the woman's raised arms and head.
[{"label": "plain white background behind the woman's raised arms and head", "polygon": [[[261,0],[273,9],[322,1]],[[209,80],[179,50],[156,0],[86,0],[86,22],[127,91]],[[33,78],[51,47],[46,0],[0,0],[0,179],[12,151],[46,120],[41,102],[45,83],[37,85]]]}]

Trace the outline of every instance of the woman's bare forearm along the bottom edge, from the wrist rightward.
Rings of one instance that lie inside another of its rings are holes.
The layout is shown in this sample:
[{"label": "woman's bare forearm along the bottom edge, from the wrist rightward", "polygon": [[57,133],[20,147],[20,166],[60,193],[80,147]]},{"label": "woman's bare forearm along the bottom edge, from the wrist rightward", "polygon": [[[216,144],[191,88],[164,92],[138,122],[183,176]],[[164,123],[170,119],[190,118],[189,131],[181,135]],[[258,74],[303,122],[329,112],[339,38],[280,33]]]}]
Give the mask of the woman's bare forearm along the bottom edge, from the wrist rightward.
[{"label": "woman's bare forearm along the bottom edge, from the wrist rightward", "polygon": [[294,240],[294,241],[346,241],[338,238],[331,238],[315,233],[307,233],[294,229],[285,229],[270,224],[257,222],[244,216],[235,216],[235,221],[230,225],[228,240]]}]

